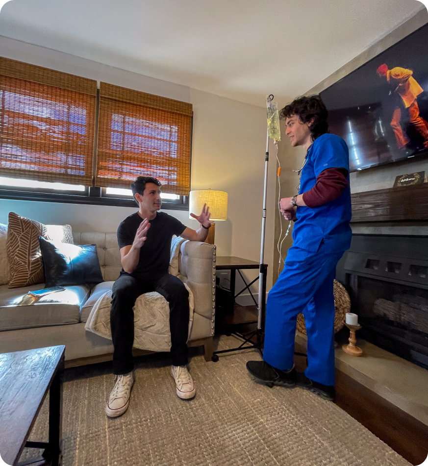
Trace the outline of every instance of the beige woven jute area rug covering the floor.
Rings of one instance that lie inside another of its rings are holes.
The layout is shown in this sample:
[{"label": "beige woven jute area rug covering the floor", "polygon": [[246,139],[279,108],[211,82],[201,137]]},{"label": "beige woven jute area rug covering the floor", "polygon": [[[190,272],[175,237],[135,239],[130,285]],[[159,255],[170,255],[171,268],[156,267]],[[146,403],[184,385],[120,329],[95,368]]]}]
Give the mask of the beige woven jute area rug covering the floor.
[{"label": "beige woven jute area rug covering the floor", "polygon": [[[221,337],[219,349],[236,346]],[[197,395],[176,396],[168,354],[138,359],[129,409],[109,419],[111,364],[68,369],[64,383],[64,466],[408,466],[335,404],[300,388],[255,383],[245,364],[254,350],[205,362],[193,349]],[[48,438],[47,402],[30,440]],[[25,450],[22,459],[34,452]]]}]

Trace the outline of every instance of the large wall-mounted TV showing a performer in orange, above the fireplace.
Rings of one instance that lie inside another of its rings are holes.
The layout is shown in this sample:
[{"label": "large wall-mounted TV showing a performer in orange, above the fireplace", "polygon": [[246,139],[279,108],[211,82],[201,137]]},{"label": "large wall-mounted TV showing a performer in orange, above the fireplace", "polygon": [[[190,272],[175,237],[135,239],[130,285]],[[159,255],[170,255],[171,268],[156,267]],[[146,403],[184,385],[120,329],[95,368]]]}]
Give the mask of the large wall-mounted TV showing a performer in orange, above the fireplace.
[{"label": "large wall-mounted TV showing a performer in orange, above the fireplace", "polygon": [[320,93],[350,171],[428,154],[428,25]]}]

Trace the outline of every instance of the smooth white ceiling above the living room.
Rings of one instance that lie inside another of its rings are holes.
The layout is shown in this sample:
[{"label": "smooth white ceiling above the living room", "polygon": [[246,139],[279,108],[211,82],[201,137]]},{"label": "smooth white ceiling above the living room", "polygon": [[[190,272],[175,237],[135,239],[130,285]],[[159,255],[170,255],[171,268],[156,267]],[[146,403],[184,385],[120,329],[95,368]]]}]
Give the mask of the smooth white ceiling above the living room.
[{"label": "smooth white ceiling above the living room", "polygon": [[284,104],[424,8],[417,0],[11,0],[0,34],[264,106]]}]

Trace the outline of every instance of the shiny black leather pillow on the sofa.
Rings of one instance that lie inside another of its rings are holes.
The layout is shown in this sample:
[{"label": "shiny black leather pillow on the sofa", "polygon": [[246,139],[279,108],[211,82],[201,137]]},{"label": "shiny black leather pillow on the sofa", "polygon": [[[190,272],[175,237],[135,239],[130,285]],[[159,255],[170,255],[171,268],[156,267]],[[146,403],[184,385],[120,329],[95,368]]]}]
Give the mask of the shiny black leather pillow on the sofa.
[{"label": "shiny black leather pillow on the sofa", "polygon": [[53,243],[39,236],[45,286],[95,286],[103,281],[96,245]]}]

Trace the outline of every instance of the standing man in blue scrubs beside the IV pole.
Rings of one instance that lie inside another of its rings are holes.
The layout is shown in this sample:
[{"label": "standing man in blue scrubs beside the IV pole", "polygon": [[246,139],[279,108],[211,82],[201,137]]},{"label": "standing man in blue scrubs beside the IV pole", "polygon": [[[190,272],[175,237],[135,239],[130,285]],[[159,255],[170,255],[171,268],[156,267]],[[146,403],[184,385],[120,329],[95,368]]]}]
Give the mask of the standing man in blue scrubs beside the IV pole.
[{"label": "standing man in blue scrubs beside the IV pole", "polygon": [[[296,196],[280,201],[294,220],[293,246],[269,292],[263,361],[249,361],[257,379],[299,386],[334,399],[334,297],[336,264],[351,245],[348,147],[327,133],[327,109],[319,96],[301,97],[281,110],[293,147],[306,156]],[[305,373],[294,368],[296,319],[303,312],[307,331]]]}]

